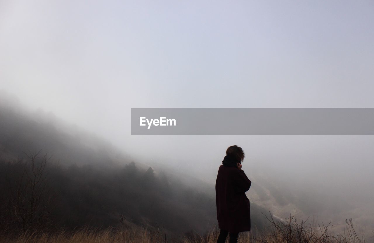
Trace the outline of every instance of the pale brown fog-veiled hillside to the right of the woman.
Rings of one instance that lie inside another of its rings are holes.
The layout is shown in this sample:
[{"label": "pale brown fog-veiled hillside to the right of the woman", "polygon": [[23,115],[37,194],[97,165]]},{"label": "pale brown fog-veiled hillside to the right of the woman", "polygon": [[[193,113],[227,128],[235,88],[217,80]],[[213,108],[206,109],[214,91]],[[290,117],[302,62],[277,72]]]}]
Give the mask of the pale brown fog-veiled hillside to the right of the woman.
[{"label": "pale brown fog-veiled hillside to the right of the woman", "polygon": [[[268,169],[264,172],[258,169],[256,174],[250,174],[257,183],[252,185],[247,196],[251,202],[269,209],[273,215],[287,218],[290,214],[298,219],[314,219],[317,222],[328,223],[330,229],[342,233],[346,227],[346,219],[355,219],[356,227],[365,234],[370,235],[374,228],[374,215],[372,200],[373,194],[368,191],[366,197],[362,193],[347,191],[342,195],[332,191],[327,193],[316,187],[295,178],[271,177],[276,172]],[[316,180],[318,180],[318,176]],[[326,188],[331,185],[326,185]]]}]

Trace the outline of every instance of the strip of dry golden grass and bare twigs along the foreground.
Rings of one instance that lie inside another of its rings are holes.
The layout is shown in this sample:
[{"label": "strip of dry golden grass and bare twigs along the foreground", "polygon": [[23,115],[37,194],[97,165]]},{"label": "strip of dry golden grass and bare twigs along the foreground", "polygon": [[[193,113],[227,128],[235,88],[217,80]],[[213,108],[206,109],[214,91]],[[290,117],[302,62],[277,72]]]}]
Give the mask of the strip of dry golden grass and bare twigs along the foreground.
[{"label": "strip of dry golden grass and bare twigs along the foreground", "polygon": [[[270,214],[270,225],[266,232],[243,232],[238,243],[368,243],[364,235],[358,234],[353,220],[347,220],[346,231],[334,235],[329,224],[298,222],[290,215],[285,220],[274,220]],[[184,234],[171,237],[160,230],[133,227],[126,229],[85,229],[76,232],[22,233],[18,236],[0,236],[0,243],[216,243],[219,230],[207,234]],[[374,231],[373,231],[374,233]],[[255,235],[255,236],[254,236]],[[228,242],[228,239],[227,239]]]}]

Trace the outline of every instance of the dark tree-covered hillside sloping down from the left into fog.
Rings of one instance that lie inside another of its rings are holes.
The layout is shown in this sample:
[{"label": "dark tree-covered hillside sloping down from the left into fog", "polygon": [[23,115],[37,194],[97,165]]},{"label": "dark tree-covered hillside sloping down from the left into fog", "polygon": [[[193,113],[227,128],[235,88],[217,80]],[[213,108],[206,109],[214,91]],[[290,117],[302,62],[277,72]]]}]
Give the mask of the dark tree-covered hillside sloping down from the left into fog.
[{"label": "dark tree-covered hillside sloping down from the left into fog", "polygon": [[[116,227],[121,215],[123,225],[169,233],[204,233],[217,224],[212,185],[134,162],[108,141],[61,122],[51,113],[27,112],[4,96],[1,99],[2,230]],[[46,162],[35,189],[43,190],[35,208],[29,200],[33,156],[36,168]],[[266,211],[253,203],[251,210],[254,225],[262,225],[261,212]]]}]

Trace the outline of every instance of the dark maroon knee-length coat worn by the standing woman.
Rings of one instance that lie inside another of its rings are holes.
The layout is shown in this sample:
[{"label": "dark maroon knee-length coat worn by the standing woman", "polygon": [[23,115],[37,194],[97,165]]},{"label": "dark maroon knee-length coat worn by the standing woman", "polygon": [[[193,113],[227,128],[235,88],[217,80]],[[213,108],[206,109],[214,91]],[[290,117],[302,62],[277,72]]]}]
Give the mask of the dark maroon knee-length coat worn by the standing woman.
[{"label": "dark maroon knee-length coat worn by the standing woman", "polygon": [[251,187],[242,169],[221,165],[215,182],[218,228],[230,233],[251,231],[249,199]]}]

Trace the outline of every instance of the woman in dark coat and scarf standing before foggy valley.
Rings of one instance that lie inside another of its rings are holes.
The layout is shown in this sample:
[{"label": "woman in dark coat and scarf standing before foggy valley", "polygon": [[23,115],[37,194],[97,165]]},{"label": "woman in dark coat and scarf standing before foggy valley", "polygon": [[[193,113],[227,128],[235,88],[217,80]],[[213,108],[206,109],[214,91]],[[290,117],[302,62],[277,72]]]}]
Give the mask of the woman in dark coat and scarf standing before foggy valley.
[{"label": "woman in dark coat and scarf standing before foggy valley", "polygon": [[220,235],[217,243],[224,243],[229,233],[230,243],[236,243],[239,232],[251,231],[249,200],[245,196],[251,181],[242,170],[243,159],[243,149],[236,145],[230,146],[226,150],[223,165],[218,169],[215,196]]}]

